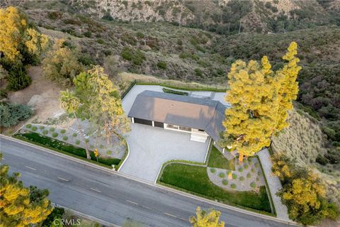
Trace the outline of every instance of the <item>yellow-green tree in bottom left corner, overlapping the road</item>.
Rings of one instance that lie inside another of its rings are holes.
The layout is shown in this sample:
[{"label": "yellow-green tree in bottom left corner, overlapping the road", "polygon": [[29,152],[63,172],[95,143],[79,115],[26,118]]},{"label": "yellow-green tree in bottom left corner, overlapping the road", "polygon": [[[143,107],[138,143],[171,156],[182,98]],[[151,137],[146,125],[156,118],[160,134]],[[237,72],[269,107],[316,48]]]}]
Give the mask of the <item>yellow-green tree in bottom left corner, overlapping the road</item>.
[{"label": "yellow-green tree in bottom left corner, overlapping the road", "polygon": [[[1,155],[0,155],[1,156]],[[24,227],[45,220],[52,212],[47,189],[26,188],[18,173],[8,175],[8,165],[0,167],[0,227]]]}]

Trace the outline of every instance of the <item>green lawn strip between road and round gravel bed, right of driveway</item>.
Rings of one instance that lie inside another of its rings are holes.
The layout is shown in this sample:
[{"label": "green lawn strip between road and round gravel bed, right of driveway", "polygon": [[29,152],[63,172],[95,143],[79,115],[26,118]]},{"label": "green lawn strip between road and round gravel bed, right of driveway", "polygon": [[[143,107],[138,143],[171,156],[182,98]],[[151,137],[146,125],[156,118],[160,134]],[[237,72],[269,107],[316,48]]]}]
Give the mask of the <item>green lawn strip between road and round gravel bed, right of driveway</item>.
[{"label": "green lawn strip between road and round gravel bed, right of driveway", "polygon": [[256,192],[229,192],[210,182],[206,167],[172,163],[164,167],[159,181],[208,199],[217,199],[225,204],[254,209],[264,214],[271,213],[271,205],[265,187],[260,187],[259,194]]}]

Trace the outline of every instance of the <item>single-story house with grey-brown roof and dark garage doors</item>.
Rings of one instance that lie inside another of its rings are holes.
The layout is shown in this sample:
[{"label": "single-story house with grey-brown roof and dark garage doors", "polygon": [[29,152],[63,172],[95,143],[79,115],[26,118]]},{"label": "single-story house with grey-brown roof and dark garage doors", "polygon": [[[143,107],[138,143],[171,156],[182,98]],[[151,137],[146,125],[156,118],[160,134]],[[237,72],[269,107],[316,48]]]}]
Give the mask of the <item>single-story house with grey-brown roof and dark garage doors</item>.
[{"label": "single-story house with grey-brown roof and dark garage doors", "polygon": [[220,101],[144,91],[137,95],[128,117],[132,123],[191,133],[191,140],[205,143],[209,136],[220,140],[225,109]]}]

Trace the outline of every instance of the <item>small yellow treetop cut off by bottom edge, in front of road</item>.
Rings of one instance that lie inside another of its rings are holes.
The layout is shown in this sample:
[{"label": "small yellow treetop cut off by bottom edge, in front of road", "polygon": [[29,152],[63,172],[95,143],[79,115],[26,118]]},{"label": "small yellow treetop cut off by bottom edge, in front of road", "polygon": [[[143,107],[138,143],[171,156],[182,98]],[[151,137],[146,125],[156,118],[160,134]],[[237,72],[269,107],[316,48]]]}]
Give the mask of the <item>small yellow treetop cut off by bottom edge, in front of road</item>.
[{"label": "small yellow treetop cut off by bottom edge, in front of road", "polygon": [[189,218],[193,227],[224,227],[225,222],[220,221],[221,212],[210,210],[209,213],[200,209],[200,206],[196,209],[196,217],[191,216]]}]

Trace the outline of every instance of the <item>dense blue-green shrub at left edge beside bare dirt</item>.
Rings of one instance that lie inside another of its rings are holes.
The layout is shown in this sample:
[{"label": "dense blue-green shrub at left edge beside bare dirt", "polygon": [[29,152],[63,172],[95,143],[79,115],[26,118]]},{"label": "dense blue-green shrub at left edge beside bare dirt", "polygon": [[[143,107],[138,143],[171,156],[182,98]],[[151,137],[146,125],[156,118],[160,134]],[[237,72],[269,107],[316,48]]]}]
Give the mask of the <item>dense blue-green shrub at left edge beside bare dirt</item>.
[{"label": "dense blue-green shrub at left edge beside bare dirt", "polygon": [[[23,104],[0,104],[0,126],[15,126],[19,121],[32,116],[33,110]],[[26,126],[27,127],[27,126]]]}]

